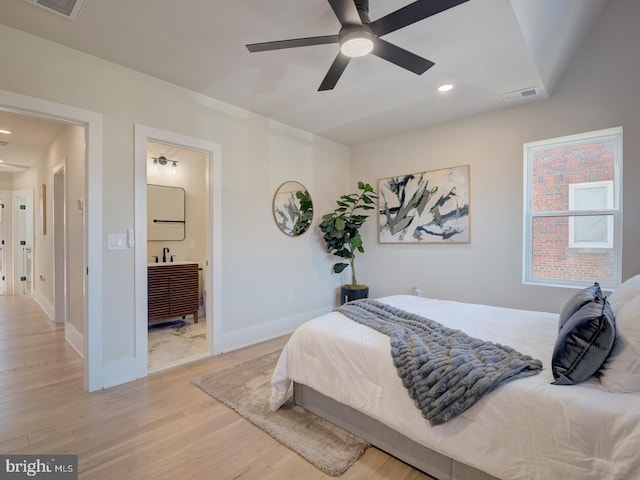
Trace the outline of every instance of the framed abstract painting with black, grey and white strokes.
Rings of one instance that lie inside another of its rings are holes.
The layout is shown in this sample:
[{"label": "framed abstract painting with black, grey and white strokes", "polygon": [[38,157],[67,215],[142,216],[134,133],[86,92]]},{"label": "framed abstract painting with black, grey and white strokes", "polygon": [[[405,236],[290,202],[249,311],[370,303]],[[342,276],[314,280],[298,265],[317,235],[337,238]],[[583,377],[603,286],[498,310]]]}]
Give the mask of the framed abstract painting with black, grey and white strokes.
[{"label": "framed abstract painting with black, grey and white strokes", "polygon": [[383,178],[380,243],[469,243],[469,165]]}]

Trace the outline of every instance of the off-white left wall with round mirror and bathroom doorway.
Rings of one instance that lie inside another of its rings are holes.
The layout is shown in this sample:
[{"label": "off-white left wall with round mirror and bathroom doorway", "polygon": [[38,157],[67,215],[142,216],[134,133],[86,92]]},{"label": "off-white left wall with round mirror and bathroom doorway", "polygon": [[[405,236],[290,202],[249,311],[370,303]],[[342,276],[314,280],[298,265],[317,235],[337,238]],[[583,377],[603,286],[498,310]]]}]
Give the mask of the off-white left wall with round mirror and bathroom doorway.
[{"label": "off-white left wall with round mirror and bathroom doorway", "polygon": [[104,385],[114,382],[108,372],[147,354],[135,351],[133,249],[106,250],[108,233],[134,226],[136,123],[222,146],[223,293],[214,321],[227,349],[284,333],[333,305],[339,279],[328,275],[331,259],[311,234],[282,235],[271,199],[280,183],[297,180],[320,211],[328,208],[348,183],[346,146],[2,25],[0,45],[11,45],[0,49],[0,89],[103,116]]}]

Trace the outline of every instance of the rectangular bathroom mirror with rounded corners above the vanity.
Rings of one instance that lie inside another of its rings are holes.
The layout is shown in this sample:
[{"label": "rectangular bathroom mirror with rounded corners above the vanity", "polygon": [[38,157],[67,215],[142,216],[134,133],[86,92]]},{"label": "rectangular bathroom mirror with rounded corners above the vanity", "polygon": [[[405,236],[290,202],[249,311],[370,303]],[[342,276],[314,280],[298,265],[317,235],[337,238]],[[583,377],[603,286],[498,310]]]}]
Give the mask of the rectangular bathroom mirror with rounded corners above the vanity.
[{"label": "rectangular bathroom mirror with rounded corners above the vanity", "polygon": [[184,188],[147,185],[147,240],[184,240]]}]

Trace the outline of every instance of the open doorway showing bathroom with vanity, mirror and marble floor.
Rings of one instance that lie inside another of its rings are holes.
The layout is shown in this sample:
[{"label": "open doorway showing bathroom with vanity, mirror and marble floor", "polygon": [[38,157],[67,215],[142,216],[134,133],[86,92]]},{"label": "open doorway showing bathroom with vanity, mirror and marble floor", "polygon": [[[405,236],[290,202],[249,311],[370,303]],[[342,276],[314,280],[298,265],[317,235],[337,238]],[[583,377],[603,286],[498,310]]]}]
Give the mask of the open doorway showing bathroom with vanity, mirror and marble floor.
[{"label": "open doorway showing bathroom with vanity, mirror and marble floor", "polygon": [[205,152],[147,141],[150,372],[209,354],[207,161]]}]

